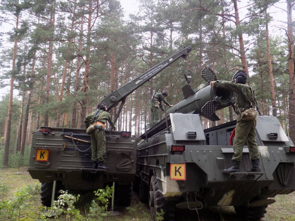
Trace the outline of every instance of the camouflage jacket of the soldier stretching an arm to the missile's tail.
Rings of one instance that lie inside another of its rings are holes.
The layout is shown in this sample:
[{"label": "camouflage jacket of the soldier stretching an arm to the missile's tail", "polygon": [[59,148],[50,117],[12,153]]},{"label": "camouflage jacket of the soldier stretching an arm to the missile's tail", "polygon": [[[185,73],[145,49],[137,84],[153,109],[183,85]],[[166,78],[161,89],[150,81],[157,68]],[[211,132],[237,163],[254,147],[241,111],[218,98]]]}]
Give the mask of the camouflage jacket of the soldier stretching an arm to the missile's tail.
[{"label": "camouflage jacket of the soldier stretching an arm to the missile's tail", "polygon": [[[231,81],[217,80],[214,82],[214,88],[224,88],[236,92],[237,105],[241,111],[252,107],[251,87],[246,84],[234,83]],[[253,98],[254,99],[254,98]]]}]

